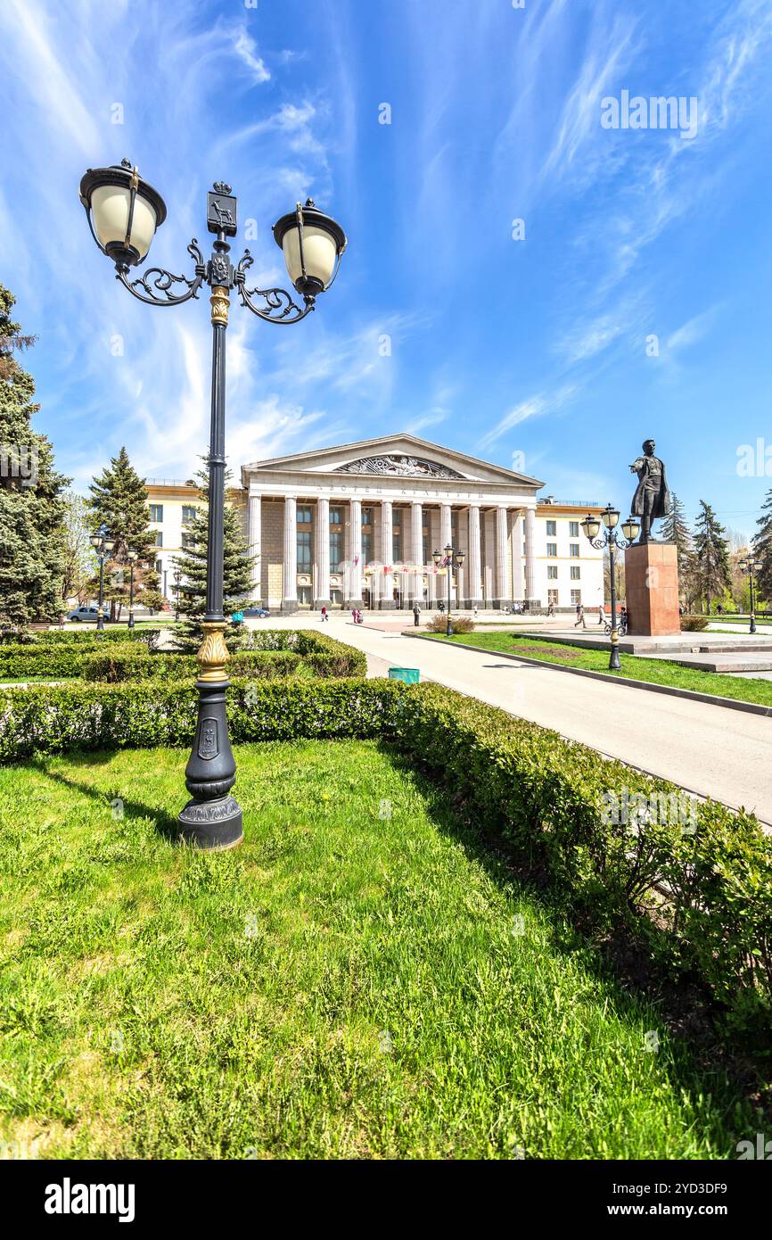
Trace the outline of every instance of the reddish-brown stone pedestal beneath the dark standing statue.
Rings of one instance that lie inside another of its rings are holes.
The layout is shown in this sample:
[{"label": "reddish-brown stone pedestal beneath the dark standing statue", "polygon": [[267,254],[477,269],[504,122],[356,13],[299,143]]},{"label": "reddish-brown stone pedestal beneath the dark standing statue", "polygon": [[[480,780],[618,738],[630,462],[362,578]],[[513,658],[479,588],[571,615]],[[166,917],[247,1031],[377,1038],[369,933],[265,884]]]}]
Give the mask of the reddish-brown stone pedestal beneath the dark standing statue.
[{"label": "reddish-brown stone pedestal beneath the dark standing statue", "polygon": [[639,637],[680,632],[675,543],[633,543],[625,552],[627,631]]}]

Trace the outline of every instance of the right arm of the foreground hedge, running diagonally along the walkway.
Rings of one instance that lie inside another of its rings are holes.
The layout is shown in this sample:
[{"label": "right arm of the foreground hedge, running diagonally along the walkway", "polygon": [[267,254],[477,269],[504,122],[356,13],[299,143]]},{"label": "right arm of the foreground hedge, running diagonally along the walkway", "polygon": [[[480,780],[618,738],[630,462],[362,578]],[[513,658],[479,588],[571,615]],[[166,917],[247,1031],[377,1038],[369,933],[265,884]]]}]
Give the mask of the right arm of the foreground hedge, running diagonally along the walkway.
[{"label": "right arm of the foreground hedge, running diagonally along the walkway", "polygon": [[[400,746],[419,764],[430,758],[477,823],[546,873],[572,910],[625,921],[673,975],[699,977],[734,1027],[768,1040],[772,841],[753,815],[689,801],[678,821],[662,813],[675,785],[538,724],[440,686],[421,686],[408,703],[397,715]],[[621,807],[626,794],[658,808],[607,821],[610,799]]]}]

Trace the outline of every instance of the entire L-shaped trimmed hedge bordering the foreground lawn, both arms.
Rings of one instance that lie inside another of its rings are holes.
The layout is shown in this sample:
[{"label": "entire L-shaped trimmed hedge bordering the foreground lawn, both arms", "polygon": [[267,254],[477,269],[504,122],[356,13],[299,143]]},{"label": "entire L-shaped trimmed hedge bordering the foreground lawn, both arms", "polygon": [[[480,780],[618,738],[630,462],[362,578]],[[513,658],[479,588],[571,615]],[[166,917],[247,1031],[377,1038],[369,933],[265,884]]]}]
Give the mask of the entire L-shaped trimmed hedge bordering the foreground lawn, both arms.
[{"label": "entire L-shaped trimmed hedge bordering the foreground lawn, both arms", "polygon": [[[689,802],[679,821],[674,785],[440,686],[253,677],[234,681],[228,698],[234,743],[395,742],[476,825],[545,875],[566,910],[603,934],[625,925],[674,977],[699,978],[731,1028],[768,1040],[772,841],[752,815]],[[193,683],[177,680],[0,691],[0,759],[187,746],[196,699]],[[615,822],[610,797],[649,808]],[[664,816],[652,812],[657,799],[669,802]]]}]

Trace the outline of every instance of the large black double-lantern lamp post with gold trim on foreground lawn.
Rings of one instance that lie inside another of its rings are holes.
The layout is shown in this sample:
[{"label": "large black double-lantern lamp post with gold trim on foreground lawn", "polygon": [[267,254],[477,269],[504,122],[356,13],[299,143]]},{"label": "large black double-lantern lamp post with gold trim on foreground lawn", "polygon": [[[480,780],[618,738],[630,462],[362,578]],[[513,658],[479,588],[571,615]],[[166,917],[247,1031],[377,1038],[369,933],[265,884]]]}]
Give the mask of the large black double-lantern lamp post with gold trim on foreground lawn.
[{"label": "large black double-lantern lamp post with gold trim on foreground lawn", "polygon": [[244,252],[234,268],[229,237],[237,234],[237,198],[230,186],[216,181],[207,196],[207,228],[216,234],[208,262],[193,238],[187,247],[195,262],[192,277],[150,268],[131,280],[130,269],[144,262],[150,243],[166,218],[160,193],[143,181],[129,160],[112,167],[89,169],[81,181],[81,202],[99,249],[115,263],[115,278],[152,306],[180,305],[197,298],[203,284],[212,291],[212,413],[209,434],[209,495],[207,546],[207,609],[198,651],[198,722],[185,770],[191,800],[180,813],[180,833],[200,848],[232,848],[243,838],[242,810],[230,789],[235,761],[228,740],[226,689],[228,650],[223,615],[223,511],[226,471],[226,329],[230,290],[243,306],[265,322],[300,322],[315,309],[316,298],[330,288],[346,249],[343,229],[318,211],[311,198],[274,224],[297,305],[284,289],[248,289],[247,272],[254,259]]}]

